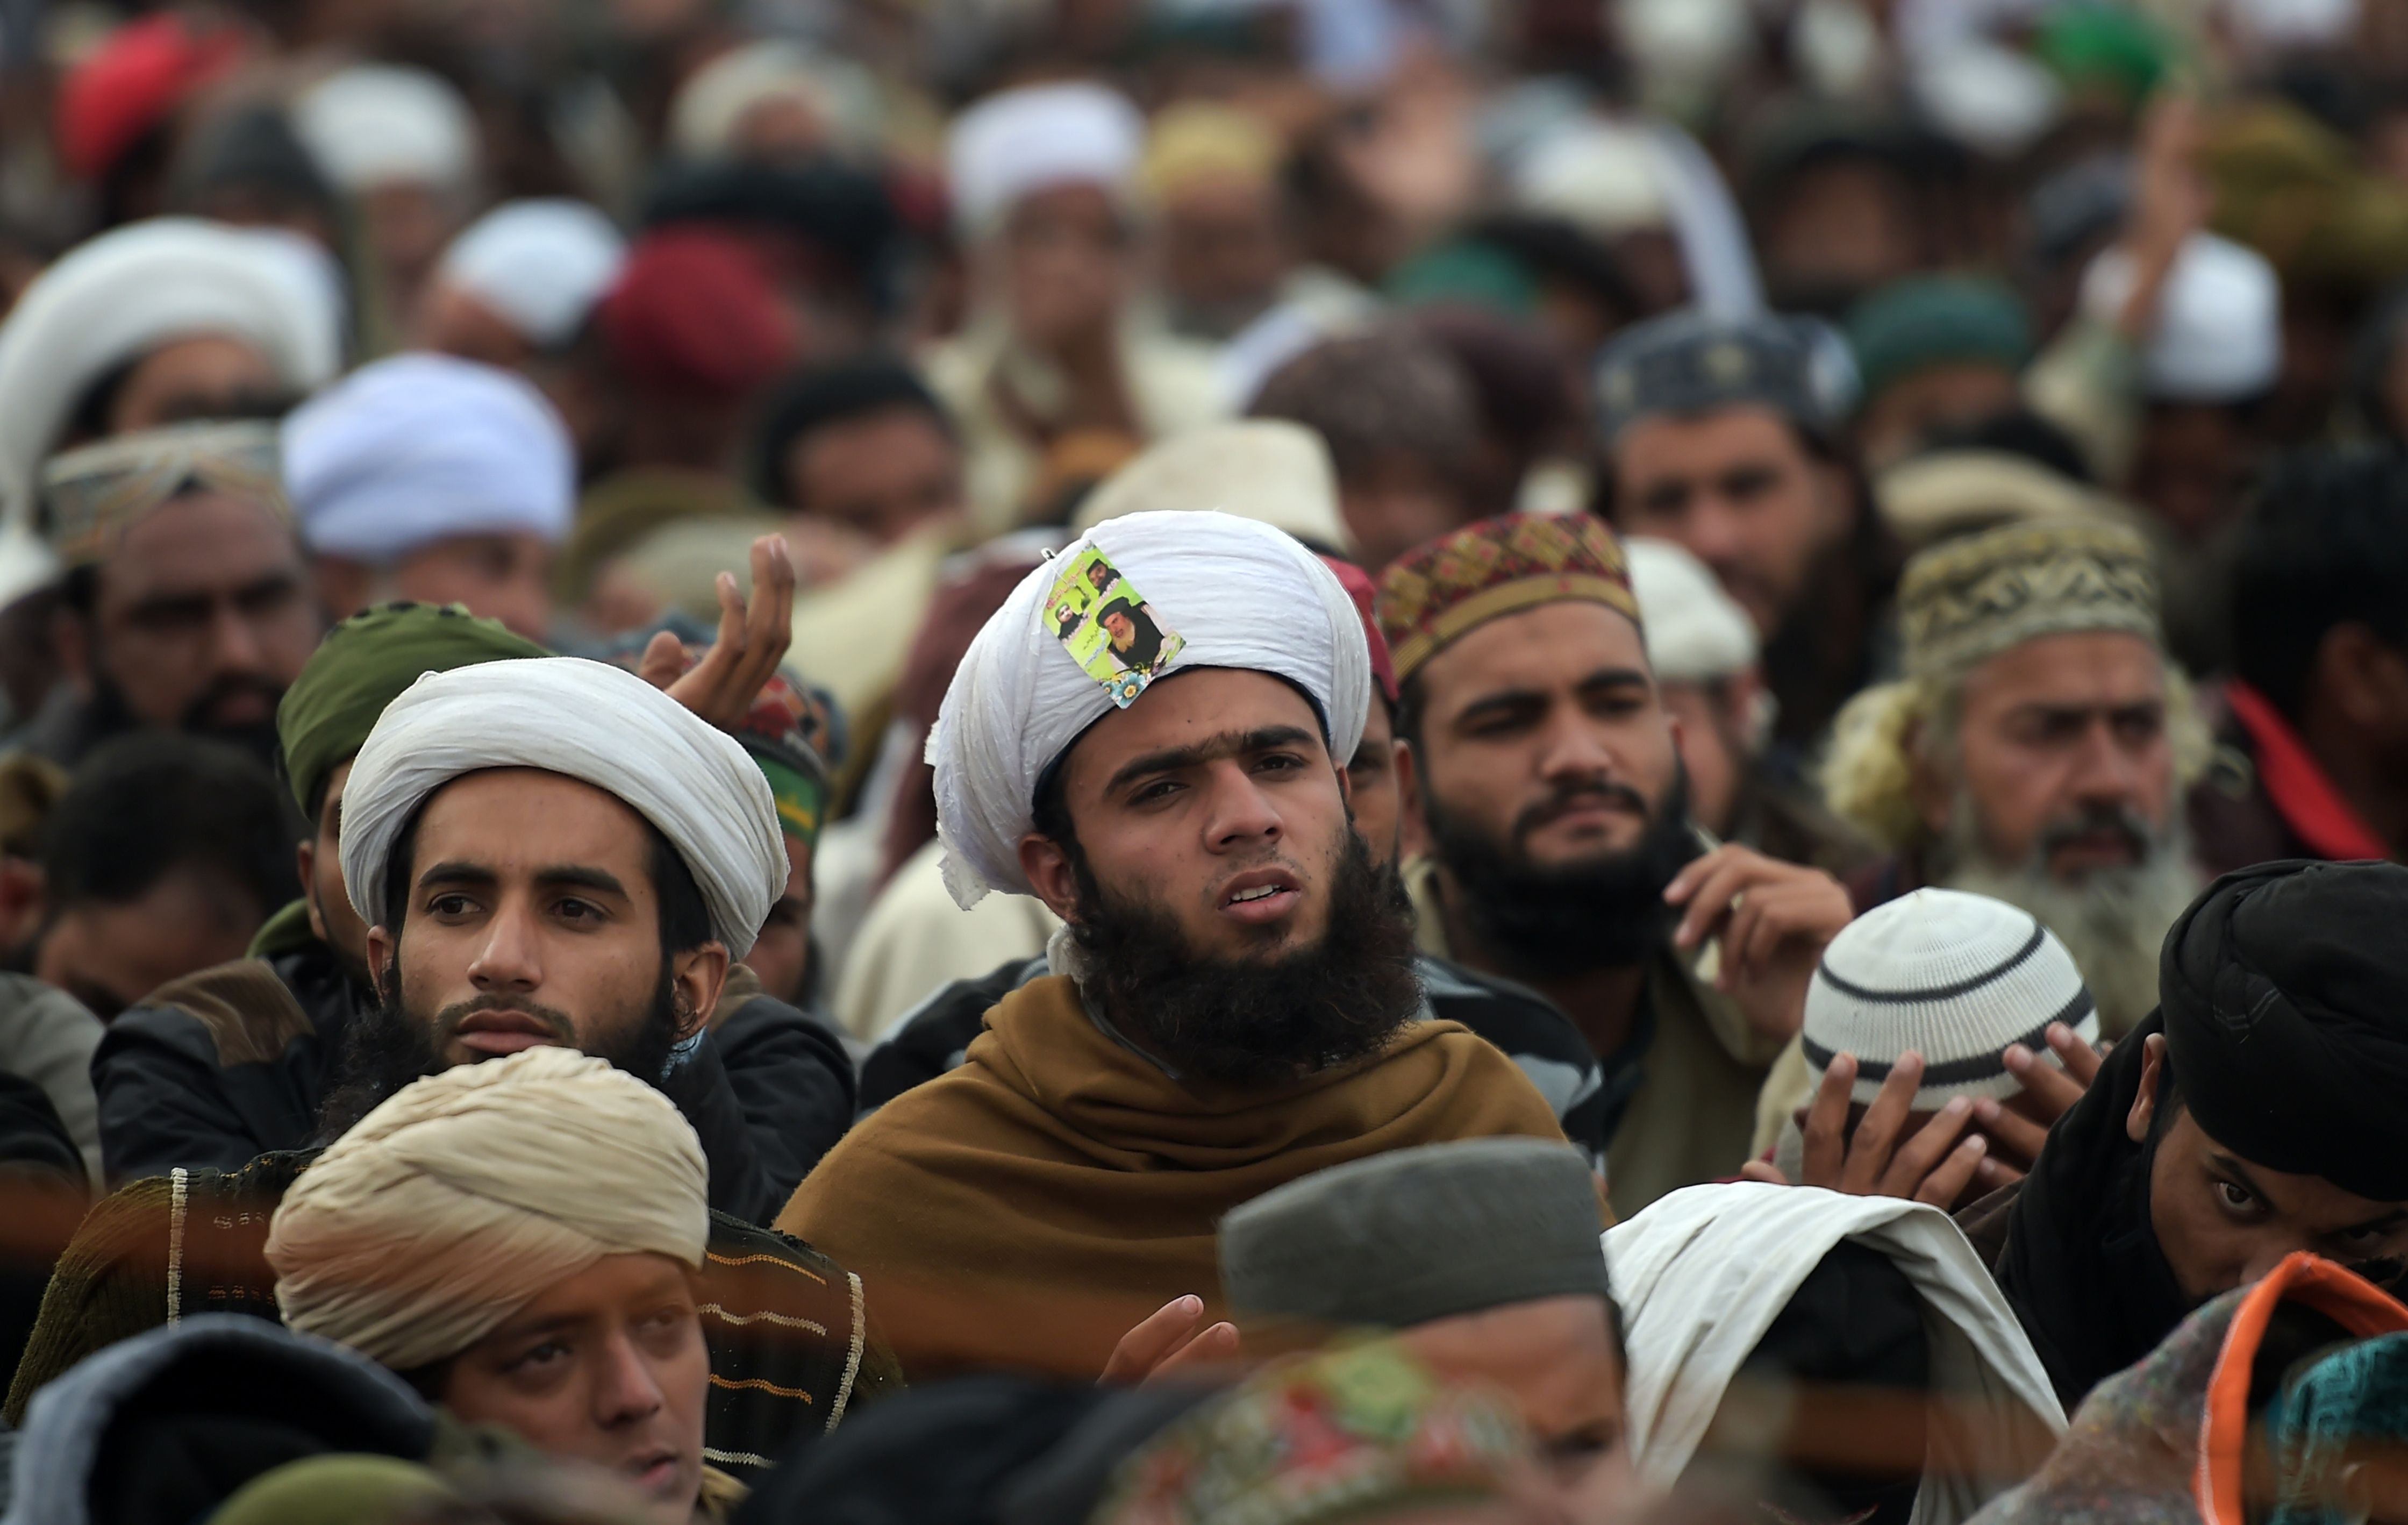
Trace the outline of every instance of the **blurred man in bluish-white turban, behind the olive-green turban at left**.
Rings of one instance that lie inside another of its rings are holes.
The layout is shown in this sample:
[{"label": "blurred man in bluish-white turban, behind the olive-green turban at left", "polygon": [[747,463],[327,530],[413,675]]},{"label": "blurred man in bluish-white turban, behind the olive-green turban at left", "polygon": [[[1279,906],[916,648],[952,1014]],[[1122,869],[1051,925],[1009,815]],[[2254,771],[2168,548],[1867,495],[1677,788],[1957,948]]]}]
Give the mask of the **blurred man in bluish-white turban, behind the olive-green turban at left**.
[{"label": "blurred man in bluish-white turban, behind the olive-green turban at left", "polygon": [[284,484],[337,619],[405,597],[542,641],[576,477],[535,385],[448,354],[361,366],[284,422]]}]

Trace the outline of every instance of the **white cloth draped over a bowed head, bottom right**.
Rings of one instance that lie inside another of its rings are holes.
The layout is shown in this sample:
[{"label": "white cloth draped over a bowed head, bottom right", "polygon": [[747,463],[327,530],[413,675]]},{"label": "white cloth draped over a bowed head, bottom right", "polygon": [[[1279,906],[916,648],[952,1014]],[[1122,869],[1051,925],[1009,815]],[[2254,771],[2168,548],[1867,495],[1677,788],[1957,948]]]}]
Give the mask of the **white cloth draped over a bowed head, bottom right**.
[{"label": "white cloth draped over a bowed head, bottom right", "polygon": [[1748,1352],[1842,1238],[1881,1250],[1914,1284],[1934,1397],[1967,1419],[1931,1426],[1912,1525],[1955,1525],[2020,1482],[2030,1458],[2015,1431],[2066,1431],[2015,1311],[1938,1207],[1811,1185],[1690,1185],[1606,1229],[1642,1482],[1681,1477]]}]

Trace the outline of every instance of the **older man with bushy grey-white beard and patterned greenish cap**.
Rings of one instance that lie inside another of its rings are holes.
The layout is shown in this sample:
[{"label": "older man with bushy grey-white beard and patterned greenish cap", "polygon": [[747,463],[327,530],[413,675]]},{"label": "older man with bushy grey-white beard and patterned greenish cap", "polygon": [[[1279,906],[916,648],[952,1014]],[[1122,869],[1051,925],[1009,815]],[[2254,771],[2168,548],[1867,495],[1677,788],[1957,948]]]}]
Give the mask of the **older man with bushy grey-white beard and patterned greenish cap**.
[{"label": "older man with bushy grey-white beard and patterned greenish cap", "polygon": [[1934,547],[1900,593],[1907,677],[1847,706],[1823,771],[1830,809],[1890,850],[1861,908],[1936,884],[2030,911],[2109,1038],[2158,1005],[2158,947],[2199,891],[2182,783],[2206,732],[2158,610],[2119,525]]}]

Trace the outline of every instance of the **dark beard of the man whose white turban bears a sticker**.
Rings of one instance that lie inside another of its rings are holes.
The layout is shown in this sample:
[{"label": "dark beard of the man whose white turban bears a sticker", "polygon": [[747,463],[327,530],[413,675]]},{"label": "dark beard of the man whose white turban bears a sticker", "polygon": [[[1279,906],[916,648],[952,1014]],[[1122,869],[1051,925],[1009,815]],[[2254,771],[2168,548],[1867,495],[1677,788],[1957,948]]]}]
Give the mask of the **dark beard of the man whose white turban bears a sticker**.
[{"label": "dark beard of the man whose white turban bears a sticker", "polygon": [[1081,990],[1180,1079],[1262,1089],[1377,1053],[1421,1009],[1413,906],[1397,870],[1344,836],[1329,930],[1269,959],[1197,954],[1170,911],[1105,894],[1072,853]]}]

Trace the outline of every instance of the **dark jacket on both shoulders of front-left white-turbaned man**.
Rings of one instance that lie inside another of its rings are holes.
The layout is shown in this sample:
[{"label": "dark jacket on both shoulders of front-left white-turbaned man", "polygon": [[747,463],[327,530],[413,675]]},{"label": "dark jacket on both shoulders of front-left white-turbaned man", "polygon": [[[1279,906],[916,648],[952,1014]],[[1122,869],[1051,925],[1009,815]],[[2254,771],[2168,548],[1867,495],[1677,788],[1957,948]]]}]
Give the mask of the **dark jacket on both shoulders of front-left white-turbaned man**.
[{"label": "dark jacket on both shoulders of front-left white-turbaned man", "polygon": [[[335,954],[238,959],[161,985],[92,1058],[108,1180],[238,1171],[306,1147],[359,995]],[[778,1217],[852,1125],[852,1062],[833,1029],[734,968],[710,1029],[660,1082],[710,1161],[710,1205]]]}]

